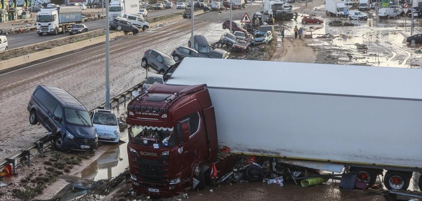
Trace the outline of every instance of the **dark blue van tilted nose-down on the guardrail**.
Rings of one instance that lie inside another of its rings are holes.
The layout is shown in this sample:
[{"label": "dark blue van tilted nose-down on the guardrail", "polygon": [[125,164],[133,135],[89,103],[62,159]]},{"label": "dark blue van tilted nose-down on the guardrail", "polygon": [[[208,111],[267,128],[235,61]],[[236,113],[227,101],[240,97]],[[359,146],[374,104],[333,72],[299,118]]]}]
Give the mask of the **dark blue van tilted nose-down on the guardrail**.
[{"label": "dark blue van tilted nose-down on the guardrail", "polygon": [[64,89],[38,85],[28,104],[29,123],[53,135],[58,150],[95,151],[98,137],[86,108]]}]

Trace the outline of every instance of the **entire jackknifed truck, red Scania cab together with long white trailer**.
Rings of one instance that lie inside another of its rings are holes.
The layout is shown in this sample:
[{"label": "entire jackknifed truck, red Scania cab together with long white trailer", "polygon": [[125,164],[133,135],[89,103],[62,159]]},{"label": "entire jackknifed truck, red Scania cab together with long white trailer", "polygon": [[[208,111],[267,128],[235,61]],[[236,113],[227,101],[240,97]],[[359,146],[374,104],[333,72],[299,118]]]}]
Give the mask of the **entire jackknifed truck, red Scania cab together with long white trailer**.
[{"label": "entire jackknifed truck, red Scania cab together with long white trailer", "polygon": [[370,185],[387,170],[388,189],[422,172],[422,69],[189,57],[163,77],[128,105],[137,192],[194,188],[223,146]]}]

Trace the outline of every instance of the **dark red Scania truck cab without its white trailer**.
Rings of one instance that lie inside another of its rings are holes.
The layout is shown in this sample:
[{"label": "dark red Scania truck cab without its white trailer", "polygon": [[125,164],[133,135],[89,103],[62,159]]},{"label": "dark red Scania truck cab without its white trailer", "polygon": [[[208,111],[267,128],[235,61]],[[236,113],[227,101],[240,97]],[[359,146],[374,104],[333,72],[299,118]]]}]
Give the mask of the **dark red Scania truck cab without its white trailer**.
[{"label": "dark red Scania truck cab without its white trailer", "polygon": [[218,154],[214,108],[205,84],[155,83],[129,103],[126,123],[136,192],[167,196],[204,185],[209,162]]}]

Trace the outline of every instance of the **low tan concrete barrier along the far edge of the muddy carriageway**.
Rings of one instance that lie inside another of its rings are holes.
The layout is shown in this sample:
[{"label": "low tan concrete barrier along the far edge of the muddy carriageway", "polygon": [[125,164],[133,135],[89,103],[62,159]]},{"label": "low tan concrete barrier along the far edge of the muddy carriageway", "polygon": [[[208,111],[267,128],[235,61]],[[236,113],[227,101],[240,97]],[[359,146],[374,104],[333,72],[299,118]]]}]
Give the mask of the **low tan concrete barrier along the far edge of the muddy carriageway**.
[{"label": "low tan concrete barrier along the far edge of the muddy carriageway", "polygon": [[[124,32],[114,32],[114,33],[110,34],[110,38],[115,38],[117,36],[122,36],[122,35],[125,35],[125,33]],[[63,40],[63,38],[57,39],[57,40]],[[15,66],[19,66],[19,65],[22,65],[22,64],[26,64],[26,63],[29,63],[29,62],[33,62],[33,61],[36,61],[36,60],[39,60],[39,59],[51,57],[51,56],[54,56],[54,55],[57,55],[57,54],[62,54],[62,53],[65,53],[65,52],[77,50],[77,49],[87,47],[87,46],[90,46],[90,45],[94,45],[94,44],[97,44],[97,43],[101,43],[101,42],[104,42],[104,41],[105,41],[105,35],[104,36],[98,36],[98,37],[91,38],[91,39],[87,39],[87,40],[83,40],[83,41],[79,41],[79,42],[76,42],[76,43],[70,43],[70,44],[67,44],[67,45],[51,48],[51,49],[48,49],[48,50],[34,52],[34,53],[31,53],[31,54],[15,57],[15,58],[4,60],[4,61],[0,61],[0,71],[8,69],[8,68],[15,67]]]}]

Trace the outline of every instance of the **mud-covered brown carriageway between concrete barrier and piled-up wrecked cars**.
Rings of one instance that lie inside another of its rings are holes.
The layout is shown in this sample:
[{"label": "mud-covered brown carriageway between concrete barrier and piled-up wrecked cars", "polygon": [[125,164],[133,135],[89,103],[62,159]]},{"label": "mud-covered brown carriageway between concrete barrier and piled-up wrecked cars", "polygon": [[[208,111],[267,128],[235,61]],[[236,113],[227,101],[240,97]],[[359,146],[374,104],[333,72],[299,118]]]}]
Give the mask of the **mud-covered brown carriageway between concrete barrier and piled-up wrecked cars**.
[{"label": "mud-covered brown carriageway between concrete barrier and piled-up wrecked cars", "polygon": [[[259,10],[258,6],[256,10]],[[245,11],[250,10],[234,11],[234,18],[240,19]],[[209,43],[219,40],[228,31],[222,29],[222,22],[229,16],[230,12],[211,12],[195,17],[195,35],[204,35]],[[147,49],[169,54],[177,46],[187,45],[189,37],[190,20],[184,19],[139,35],[113,40],[110,48],[111,95],[115,96],[145,79],[145,70],[140,68],[140,62]],[[36,85],[64,88],[88,110],[104,103],[104,51],[104,44],[97,44],[1,72],[0,119],[3,122],[0,126],[0,158],[46,135],[44,128],[28,122],[26,108]]]}]

